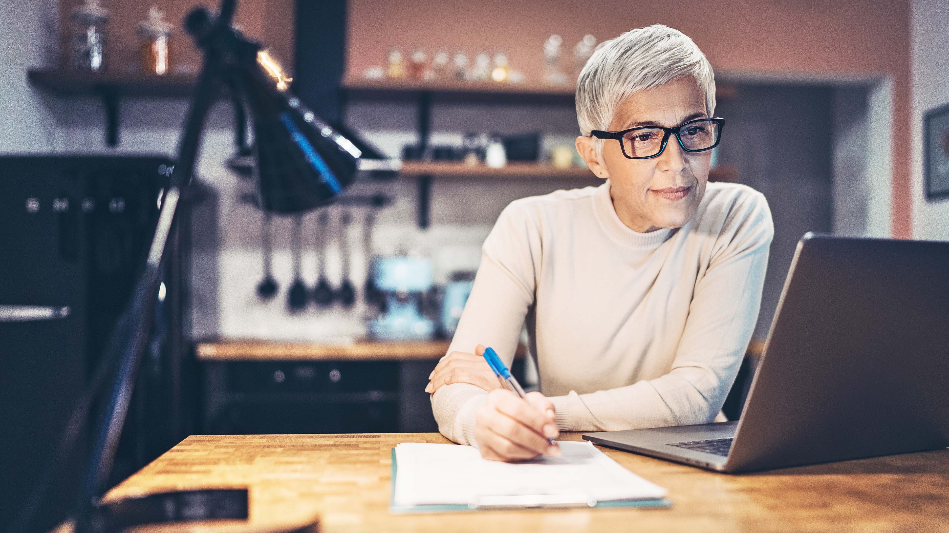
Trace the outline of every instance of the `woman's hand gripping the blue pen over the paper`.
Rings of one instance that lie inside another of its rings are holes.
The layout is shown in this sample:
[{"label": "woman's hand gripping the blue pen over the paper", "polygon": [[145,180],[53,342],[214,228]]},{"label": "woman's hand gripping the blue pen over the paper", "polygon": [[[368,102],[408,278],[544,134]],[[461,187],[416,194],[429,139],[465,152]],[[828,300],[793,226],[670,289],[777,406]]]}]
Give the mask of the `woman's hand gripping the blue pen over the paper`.
[{"label": "woman's hand gripping the blue pen over the paper", "polygon": [[560,431],[550,400],[540,393],[521,398],[507,389],[488,393],[474,418],[474,440],[481,456],[493,461],[522,461],[541,454],[560,455],[548,438]]}]

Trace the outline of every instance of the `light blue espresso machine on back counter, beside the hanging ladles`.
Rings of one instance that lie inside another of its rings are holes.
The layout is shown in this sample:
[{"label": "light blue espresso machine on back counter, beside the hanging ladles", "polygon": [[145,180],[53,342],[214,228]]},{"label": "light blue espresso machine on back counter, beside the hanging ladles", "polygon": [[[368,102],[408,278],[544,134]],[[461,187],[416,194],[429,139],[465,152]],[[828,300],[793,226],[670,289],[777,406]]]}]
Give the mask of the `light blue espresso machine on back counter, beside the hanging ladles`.
[{"label": "light blue espresso machine on back counter, beside the hanging ladles", "polygon": [[377,340],[429,340],[436,324],[422,313],[432,288],[432,262],[420,257],[377,257],[372,266],[375,288],[382,294],[380,314],[368,322],[369,337]]}]

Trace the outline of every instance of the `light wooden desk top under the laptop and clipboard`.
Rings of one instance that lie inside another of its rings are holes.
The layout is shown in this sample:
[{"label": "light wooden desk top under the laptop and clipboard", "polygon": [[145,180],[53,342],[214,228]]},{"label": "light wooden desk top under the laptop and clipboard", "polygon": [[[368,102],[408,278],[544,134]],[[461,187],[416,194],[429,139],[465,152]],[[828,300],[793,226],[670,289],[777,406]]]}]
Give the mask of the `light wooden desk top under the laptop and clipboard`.
[{"label": "light wooden desk top under the laptop and clipboard", "polygon": [[324,532],[949,531],[949,450],[731,476],[603,449],[667,487],[672,508],[391,515],[390,449],[400,442],[448,441],[438,433],[192,436],[106,498],[249,487],[251,524],[319,517]]}]

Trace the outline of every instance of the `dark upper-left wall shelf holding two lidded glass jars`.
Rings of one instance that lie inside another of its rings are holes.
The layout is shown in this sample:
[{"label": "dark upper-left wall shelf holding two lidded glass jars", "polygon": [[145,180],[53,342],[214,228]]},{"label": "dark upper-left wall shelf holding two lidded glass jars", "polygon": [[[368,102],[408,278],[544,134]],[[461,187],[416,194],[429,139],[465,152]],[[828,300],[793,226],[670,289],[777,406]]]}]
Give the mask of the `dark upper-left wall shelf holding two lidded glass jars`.
[{"label": "dark upper-left wall shelf holding two lidded glass jars", "polygon": [[191,95],[194,74],[149,75],[141,72],[91,74],[56,69],[30,69],[30,83],[57,96],[94,96],[112,91],[116,96],[177,98]]}]

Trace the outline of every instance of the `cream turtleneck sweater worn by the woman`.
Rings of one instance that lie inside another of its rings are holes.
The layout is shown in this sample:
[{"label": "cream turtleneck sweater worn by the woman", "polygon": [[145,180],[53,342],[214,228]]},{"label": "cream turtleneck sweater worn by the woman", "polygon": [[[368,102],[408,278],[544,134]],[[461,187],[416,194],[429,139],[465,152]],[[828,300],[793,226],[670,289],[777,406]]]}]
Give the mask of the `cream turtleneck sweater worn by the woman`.
[{"label": "cream turtleneck sweater worn by the woman", "polygon": [[[540,389],[564,431],[711,422],[751,340],[773,225],[761,193],[709,183],[677,230],[630,230],[600,187],[523,198],[483,246],[449,353],[509,365],[526,322]],[[432,395],[438,429],[473,444],[485,391]]]}]

